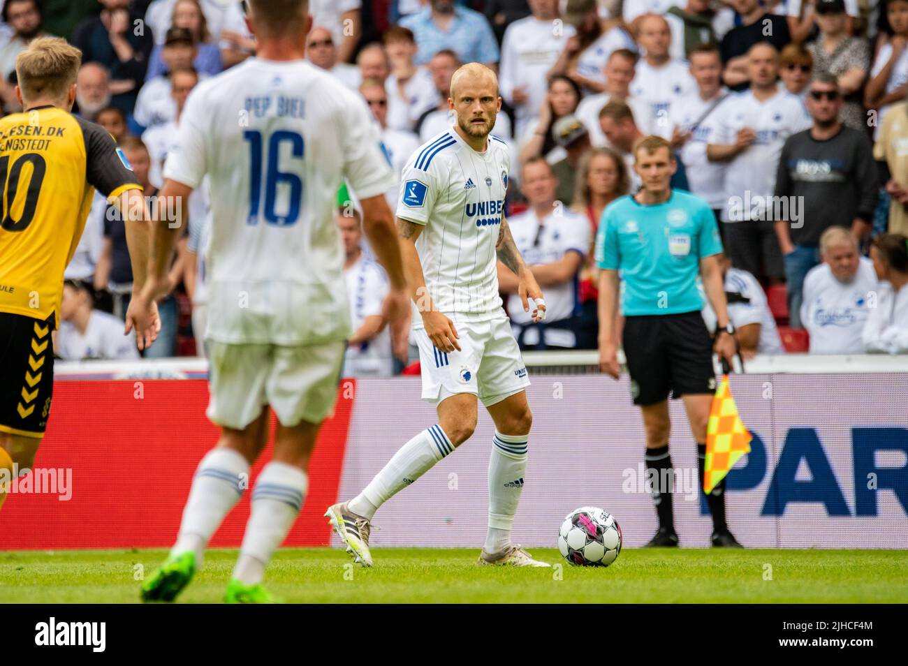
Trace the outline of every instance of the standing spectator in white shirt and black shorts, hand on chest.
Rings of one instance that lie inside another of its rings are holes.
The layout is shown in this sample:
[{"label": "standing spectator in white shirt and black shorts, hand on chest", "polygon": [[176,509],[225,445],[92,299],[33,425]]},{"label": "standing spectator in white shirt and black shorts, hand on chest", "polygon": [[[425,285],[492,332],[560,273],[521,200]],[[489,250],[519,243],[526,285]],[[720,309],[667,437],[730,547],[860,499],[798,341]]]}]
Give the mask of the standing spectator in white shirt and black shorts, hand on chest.
[{"label": "standing spectator in white shirt and black shorts, hand on chest", "polygon": [[747,54],[750,89],[719,105],[706,123],[710,162],[725,162],[725,250],[735,268],[781,282],[785,266],[773,223],[773,191],[785,140],[811,125],[804,103],[776,84],[778,53],[755,44]]}]

